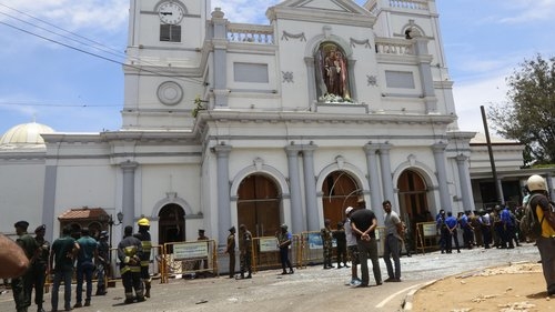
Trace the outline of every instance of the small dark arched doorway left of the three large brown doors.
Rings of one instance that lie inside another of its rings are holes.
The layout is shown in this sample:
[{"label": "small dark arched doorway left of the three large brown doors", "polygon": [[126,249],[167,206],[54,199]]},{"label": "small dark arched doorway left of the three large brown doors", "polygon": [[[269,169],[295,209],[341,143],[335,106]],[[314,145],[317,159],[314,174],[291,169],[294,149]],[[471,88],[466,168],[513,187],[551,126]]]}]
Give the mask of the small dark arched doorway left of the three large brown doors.
[{"label": "small dark arched doorway left of the three large brown doors", "polygon": [[158,213],[158,242],[160,245],[185,240],[185,212],[181,205],[169,203]]}]

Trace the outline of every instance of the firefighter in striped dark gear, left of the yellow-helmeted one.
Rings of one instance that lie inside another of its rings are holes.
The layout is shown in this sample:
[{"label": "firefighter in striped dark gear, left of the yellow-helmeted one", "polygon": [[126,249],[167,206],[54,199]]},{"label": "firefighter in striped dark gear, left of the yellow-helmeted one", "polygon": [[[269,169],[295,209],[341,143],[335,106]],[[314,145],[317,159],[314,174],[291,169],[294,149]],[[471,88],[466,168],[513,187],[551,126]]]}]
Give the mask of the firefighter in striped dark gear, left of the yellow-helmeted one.
[{"label": "firefighter in striped dark gear, left of the yellow-helmeted one", "polygon": [[133,290],[137,301],[144,301],[141,283],[141,241],[133,236],[133,227],[128,225],[123,230],[123,240],[118,244],[118,258],[120,259],[120,273],[125,289],[125,304],[133,303]]}]

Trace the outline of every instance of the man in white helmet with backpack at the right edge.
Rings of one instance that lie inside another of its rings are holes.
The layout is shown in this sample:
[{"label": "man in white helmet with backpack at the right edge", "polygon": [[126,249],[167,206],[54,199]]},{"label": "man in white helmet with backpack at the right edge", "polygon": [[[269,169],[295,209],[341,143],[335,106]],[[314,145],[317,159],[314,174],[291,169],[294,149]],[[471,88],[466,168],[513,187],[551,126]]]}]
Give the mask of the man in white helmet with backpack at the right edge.
[{"label": "man in white helmet with backpack at the right edge", "polygon": [[535,212],[534,218],[541,225],[541,235],[536,239],[536,244],[542,259],[547,294],[555,295],[555,212],[547,198],[544,178],[537,174],[531,175],[526,184],[531,191],[529,208]]}]

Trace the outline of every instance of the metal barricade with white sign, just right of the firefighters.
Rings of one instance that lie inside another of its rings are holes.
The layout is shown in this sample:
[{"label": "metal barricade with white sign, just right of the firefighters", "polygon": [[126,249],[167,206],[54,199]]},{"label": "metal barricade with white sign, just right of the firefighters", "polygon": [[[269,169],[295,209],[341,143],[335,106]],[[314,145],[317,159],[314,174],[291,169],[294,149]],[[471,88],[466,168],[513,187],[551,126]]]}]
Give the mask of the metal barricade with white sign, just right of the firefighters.
[{"label": "metal barricade with white sign, just right of the firefighters", "polygon": [[183,274],[219,275],[214,240],[164,243],[163,253],[157,260],[162,283],[168,283],[170,276]]}]

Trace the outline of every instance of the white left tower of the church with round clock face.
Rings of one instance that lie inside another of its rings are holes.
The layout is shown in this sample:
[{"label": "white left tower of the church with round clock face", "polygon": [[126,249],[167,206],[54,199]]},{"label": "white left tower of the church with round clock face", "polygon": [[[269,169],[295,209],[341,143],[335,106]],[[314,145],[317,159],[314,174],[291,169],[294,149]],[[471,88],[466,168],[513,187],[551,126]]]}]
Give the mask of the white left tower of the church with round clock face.
[{"label": "white left tower of the church with round clock face", "polygon": [[122,129],[192,128],[210,7],[210,0],[131,0]]}]

